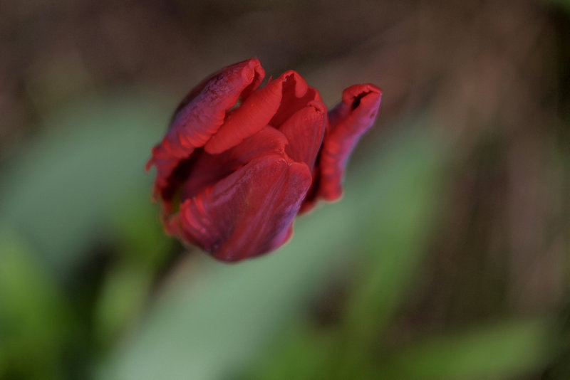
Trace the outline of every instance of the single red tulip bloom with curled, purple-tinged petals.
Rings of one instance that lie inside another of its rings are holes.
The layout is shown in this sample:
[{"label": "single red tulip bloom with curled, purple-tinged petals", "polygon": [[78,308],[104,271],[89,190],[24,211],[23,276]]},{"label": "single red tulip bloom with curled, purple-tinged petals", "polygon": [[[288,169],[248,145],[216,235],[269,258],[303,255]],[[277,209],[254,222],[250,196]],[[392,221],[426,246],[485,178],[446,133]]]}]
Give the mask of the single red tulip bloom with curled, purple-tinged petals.
[{"label": "single red tulip bloom with curled, purple-tinged petals", "polygon": [[348,157],[380,107],[374,85],[347,88],[327,112],[295,71],[260,87],[264,76],[252,58],[202,81],[147,163],[165,231],[219,260],[279,248],[299,212],[340,198]]}]

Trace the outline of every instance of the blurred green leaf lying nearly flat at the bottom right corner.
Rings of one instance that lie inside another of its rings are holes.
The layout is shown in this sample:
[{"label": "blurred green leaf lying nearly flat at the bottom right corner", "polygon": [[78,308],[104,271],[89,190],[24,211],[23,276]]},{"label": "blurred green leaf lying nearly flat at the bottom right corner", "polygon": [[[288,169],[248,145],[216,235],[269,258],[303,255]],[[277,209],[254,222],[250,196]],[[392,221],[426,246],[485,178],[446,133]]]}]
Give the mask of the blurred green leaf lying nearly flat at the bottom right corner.
[{"label": "blurred green leaf lying nearly flat at the bottom right corner", "polygon": [[544,365],[548,342],[546,320],[502,322],[417,342],[381,368],[385,379],[510,379]]}]

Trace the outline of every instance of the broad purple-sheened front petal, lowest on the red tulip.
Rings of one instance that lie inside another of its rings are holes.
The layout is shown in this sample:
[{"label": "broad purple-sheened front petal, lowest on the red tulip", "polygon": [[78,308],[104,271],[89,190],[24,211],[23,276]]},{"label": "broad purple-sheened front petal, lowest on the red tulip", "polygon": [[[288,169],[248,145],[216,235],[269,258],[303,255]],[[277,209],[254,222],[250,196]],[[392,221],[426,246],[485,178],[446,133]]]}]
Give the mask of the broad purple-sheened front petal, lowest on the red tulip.
[{"label": "broad purple-sheened front petal, lowest on the red tulip", "polygon": [[[218,181],[180,208],[170,231],[237,261],[276,248],[311,184],[306,164],[279,155],[260,157]],[[283,241],[284,243],[284,241]]]}]

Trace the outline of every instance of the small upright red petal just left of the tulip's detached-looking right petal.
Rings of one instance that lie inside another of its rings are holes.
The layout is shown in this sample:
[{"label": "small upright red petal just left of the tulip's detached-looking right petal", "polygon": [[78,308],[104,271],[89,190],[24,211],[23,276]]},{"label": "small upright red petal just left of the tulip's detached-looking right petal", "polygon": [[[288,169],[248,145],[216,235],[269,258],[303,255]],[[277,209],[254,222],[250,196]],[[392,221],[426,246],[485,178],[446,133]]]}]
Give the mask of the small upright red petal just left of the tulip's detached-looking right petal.
[{"label": "small upright red petal just left of the tulip's detached-looking right petal", "polygon": [[321,149],[326,127],[326,107],[322,102],[311,101],[307,107],[295,112],[279,127],[289,139],[286,153],[296,162],[304,162],[311,171],[318,150]]}]

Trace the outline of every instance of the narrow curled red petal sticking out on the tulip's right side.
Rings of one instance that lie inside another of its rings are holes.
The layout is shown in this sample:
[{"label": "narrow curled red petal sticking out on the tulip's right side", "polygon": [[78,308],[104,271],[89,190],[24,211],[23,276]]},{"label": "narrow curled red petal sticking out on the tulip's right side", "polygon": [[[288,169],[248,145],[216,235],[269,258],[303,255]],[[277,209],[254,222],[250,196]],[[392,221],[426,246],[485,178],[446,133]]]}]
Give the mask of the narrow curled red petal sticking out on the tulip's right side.
[{"label": "narrow curled red petal sticking out on the tulip's right side", "polygon": [[318,169],[318,195],[334,201],[342,195],[342,181],[348,157],[374,124],[382,91],[375,85],[353,85],[343,91],[343,101],[328,112],[329,127],[323,139]]}]

